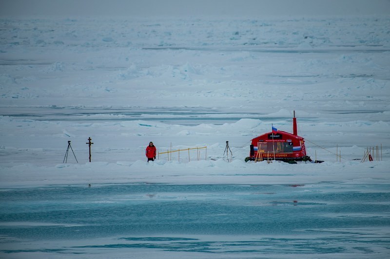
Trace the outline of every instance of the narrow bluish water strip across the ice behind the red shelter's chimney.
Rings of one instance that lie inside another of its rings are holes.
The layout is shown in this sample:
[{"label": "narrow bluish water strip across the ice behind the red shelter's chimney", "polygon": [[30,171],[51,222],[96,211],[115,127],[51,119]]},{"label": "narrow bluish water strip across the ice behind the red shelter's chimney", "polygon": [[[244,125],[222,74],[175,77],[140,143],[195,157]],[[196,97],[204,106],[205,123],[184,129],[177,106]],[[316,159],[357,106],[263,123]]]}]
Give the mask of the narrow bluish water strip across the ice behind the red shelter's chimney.
[{"label": "narrow bluish water strip across the ice behind the red shelter's chimney", "polygon": [[[363,114],[368,120],[375,121],[386,110],[377,109],[329,109],[328,115],[305,114],[300,116],[301,122],[322,121],[325,116],[333,120],[341,121],[342,116],[349,116],[351,119],[359,119]],[[158,108],[87,108],[87,107],[3,107],[3,116],[10,116],[22,120],[34,121],[76,121],[76,122],[109,122],[109,121],[158,121],[168,124],[180,124],[196,126],[206,124],[234,123],[241,119],[255,119],[266,122],[290,120],[290,114],[264,114],[253,110],[237,112],[234,108],[202,108],[202,107],[158,107]],[[379,116],[378,116],[379,114]],[[382,121],[390,121],[390,117],[381,117]]]}]

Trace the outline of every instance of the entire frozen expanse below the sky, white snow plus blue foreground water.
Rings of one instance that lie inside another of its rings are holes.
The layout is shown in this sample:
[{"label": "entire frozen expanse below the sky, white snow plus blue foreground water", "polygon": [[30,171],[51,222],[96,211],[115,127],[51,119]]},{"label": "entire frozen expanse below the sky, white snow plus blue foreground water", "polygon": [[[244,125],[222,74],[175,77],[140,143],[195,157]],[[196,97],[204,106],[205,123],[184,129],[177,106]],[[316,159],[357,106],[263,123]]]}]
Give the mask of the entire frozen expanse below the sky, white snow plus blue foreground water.
[{"label": "entire frozen expanse below the sky, white snow plus blue foreground water", "polygon": [[[1,18],[1,257],[389,257],[389,28]],[[293,110],[325,162],[245,163]],[[78,163],[62,163],[68,140]],[[149,141],[207,154],[147,163]],[[380,161],[356,160],[376,146]]]}]

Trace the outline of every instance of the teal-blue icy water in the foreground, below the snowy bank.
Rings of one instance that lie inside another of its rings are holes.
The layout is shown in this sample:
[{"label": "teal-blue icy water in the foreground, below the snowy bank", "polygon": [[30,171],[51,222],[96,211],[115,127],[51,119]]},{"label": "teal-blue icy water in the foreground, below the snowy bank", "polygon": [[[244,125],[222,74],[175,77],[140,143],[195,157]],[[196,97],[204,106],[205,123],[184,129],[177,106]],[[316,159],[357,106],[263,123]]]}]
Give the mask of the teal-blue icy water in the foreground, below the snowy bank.
[{"label": "teal-blue icy water in the foreground, below the snowy bank", "polygon": [[384,258],[389,184],[2,189],[4,258]]}]

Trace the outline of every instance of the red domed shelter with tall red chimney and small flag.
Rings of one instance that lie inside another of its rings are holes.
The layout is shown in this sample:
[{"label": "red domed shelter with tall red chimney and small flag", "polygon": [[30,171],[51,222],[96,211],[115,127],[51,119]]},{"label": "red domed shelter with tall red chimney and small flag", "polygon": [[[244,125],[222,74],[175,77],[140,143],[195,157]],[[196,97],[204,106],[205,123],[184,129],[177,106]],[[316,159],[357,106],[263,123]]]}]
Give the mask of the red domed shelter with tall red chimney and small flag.
[{"label": "red domed shelter with tall red chimney and small flag", "polygon": [[272,127],[271,132],[253,138],[246,160],[311,161],[306,155],[304,138],[297,134],[295,111],[292,124],[292,133]]}]

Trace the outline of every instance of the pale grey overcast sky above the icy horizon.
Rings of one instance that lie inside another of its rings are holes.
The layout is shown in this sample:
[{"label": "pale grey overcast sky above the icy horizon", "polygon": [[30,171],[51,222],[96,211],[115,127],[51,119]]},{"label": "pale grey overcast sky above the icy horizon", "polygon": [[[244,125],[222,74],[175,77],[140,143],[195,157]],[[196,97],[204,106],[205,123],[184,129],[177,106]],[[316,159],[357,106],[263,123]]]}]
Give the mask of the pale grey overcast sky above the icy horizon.
[{"label": "pale grey overcast sky above the icy horizon", "polygon": [[0,0],[0,16],[390,15],[390,0]]}]

